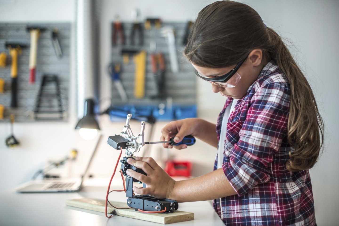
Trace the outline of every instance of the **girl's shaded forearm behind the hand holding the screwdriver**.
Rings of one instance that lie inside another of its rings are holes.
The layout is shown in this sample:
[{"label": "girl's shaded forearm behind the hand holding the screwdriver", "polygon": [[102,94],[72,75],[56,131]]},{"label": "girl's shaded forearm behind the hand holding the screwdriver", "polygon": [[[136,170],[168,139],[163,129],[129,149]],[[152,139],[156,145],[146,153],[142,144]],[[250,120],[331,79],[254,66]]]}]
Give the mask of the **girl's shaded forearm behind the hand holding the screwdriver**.
[{"label": "girl's shaded forearm behind the hand holding the screwdriver", "polygon": [[215,124],[207,122],[203,119],[199,119],[198,121],[198,129],[196,137],[199,140],[206,142],[207,144],[212,145],[213,147],[217,147],[218,138],[217,132],[215,129]]}]

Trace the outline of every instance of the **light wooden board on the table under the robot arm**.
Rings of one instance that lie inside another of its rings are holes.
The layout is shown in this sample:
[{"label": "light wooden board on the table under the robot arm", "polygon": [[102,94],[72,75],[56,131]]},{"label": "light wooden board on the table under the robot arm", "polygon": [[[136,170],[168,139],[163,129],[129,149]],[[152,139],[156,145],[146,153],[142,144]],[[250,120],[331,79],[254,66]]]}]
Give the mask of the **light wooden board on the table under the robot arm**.
[{"label": "light wooden board on the table under the robot arm", "polygon": [[[118,208],[128,208],[127,203],[110,202]],[[66,205],[103,213],[105,212],[105,200],[100,199],[69,199],[66,200]],[[194,213],[178,210],[173,213],[142,213],[135,211],[134,209],[115,209],[111,206],[107,207],[108,213],[112,213],[113,210],[117,212],[118,216],[151,221],[160,224],[171,224],[182,221],[191,221],[194,219]]]}]

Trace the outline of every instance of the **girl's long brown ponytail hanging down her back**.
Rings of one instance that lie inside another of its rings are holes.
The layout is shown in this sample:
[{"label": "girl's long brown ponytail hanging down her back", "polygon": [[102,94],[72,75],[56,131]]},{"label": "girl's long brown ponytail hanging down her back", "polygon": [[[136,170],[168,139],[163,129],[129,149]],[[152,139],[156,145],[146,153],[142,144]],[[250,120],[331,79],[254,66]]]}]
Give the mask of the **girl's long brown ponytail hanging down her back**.
[{"label": "girl's long brown ponytail hanging down her back", "polygon": [[268,54],[290,82],[291,104],[287,124],[288,143],[294,147],[286,167],[290,171],[309,169],[317,162],[324,141],[324,123],[310,84],[280,36],[267,27]]}]

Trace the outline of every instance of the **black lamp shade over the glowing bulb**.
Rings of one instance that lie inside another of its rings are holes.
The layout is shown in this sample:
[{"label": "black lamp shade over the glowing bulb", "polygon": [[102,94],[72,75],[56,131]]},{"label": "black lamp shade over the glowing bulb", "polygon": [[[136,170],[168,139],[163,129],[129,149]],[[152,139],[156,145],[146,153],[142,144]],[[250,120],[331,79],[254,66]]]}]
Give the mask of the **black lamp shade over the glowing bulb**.
[{"label": "black lamp shade over the glowing bulb", "polygon": [[85,100],[84,105],[84,117],[79,120],[77,125],[75,126],[75,129],[99,129],[99,124],[97,120],[95,119],[94,115],[94,100],[93,99],[87,99]]}]

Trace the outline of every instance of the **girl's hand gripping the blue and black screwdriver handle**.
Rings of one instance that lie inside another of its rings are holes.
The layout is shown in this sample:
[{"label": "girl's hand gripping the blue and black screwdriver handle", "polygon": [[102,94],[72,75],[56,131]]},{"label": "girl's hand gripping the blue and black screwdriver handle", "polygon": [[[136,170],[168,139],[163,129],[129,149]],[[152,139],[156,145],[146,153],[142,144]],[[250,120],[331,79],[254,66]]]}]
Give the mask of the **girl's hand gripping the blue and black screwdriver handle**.
[{"label": "girl's hand gripping the blue and black screwdriver handle", "polygon": [[[171,137],[175,137],[174,141],[179,143],[187,135],[197,136],[199,122],[200,119],[197,118],[188,118],[170,122],[161,129],[162,136],[160,137],[160,140],[169,141]],[[173,147],[172,145],[169,145],[169,143],[163,143],[162,146],[164,148]],[[181,144],[174,146],[174,148],[180,150],[187,148],[187,145]]]}]

